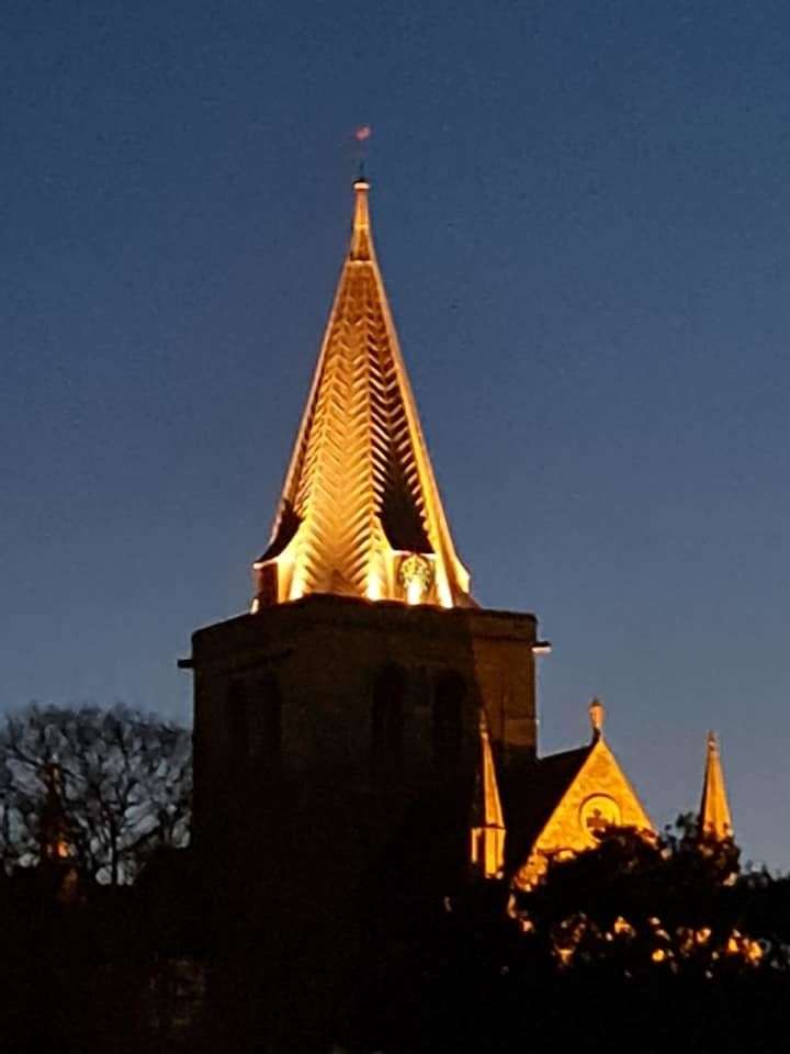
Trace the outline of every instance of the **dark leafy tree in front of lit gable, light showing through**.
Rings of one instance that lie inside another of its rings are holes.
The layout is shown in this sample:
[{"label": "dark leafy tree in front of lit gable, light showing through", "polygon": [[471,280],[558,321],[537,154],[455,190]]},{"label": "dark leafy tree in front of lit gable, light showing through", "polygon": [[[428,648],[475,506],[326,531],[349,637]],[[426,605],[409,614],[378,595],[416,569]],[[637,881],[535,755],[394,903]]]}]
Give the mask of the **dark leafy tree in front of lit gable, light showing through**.
[{"label": "dark leafy tree in front of lit gable, light showing through", "polygon": [[651,840],[610,829],[596,849],[550,864],[516,905],[529,941],[564,968],[602,962],[630,977],[659,966],[712,975],[765,954],[761,934],[746,933],[737,846],[701,841],[691,817]]}]

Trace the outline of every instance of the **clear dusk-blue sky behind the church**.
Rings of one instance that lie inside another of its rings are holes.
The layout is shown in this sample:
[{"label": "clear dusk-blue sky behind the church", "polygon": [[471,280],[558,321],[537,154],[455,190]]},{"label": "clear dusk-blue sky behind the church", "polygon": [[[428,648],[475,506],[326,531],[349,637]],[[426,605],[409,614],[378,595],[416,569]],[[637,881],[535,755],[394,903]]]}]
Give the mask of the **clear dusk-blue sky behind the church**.
[{"label": "clear dusk-blue sky behind the church", "polygon": [[380,258],[545,749],[605,699],[663,823],[716,728],[790,865],[786,3],[7,0],[0,705],[188,719],[246,608],[370,122]]}]

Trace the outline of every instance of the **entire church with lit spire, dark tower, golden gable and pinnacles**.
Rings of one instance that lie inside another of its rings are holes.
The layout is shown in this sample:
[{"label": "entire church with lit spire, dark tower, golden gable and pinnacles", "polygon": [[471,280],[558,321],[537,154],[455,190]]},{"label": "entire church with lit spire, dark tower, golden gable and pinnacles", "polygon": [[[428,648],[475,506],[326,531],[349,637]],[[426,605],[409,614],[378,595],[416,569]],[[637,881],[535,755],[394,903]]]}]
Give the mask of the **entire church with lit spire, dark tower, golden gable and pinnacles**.
[{"label": "entire church with lit spire, dark tower, golden gable and pinnacles", "polygon": [[[653,823],[589,705],[541,755],[529,613],[474,599],[354,183],[350,244],[247,614],[198,630],[193,845],[266,933],[270,1012],[353,988],[356,950],[470,883],[528,889],[608,826]],[[701,805],[732,833],[715,740]],[[276,1006],[275,1006],[276,1005]]]}]

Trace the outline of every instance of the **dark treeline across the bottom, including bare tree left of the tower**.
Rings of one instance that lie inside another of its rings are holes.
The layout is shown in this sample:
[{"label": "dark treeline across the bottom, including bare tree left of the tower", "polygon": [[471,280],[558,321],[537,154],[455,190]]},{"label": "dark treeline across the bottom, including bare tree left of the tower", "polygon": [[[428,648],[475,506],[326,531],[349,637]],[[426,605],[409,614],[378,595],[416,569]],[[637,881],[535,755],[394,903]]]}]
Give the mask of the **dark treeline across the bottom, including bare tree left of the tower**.
[{"label": "dark treeline across the bottom, including bare tree left of the tower", "polygon": [[[261,1009],[278,984],[267,933],[217,917],[190,796],[185,729],[126,708],[5,720],[0,1050],[283,1049]],[[654,841],[610,829],[529,893],[470,882],[404,900],[390,879],[364,917],[356,1010],[289,1051],[787,1046],[790,881],[742,870],[735,844],[700,840],[688,817]]]}]

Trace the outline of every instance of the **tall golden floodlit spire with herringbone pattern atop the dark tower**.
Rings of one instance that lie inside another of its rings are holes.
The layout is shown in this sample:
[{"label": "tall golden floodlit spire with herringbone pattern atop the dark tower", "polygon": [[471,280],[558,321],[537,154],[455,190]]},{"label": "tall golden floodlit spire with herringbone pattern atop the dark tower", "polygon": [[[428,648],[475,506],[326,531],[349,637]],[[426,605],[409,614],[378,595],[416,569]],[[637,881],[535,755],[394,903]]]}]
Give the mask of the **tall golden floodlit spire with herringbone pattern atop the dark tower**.
[{"label": "tall golden floodlit spire with herringbone pattern atop the dark tower", "polygon": [[400,357],[364,179],[269,548],[262,605],[308,593],[469,605]]}]

